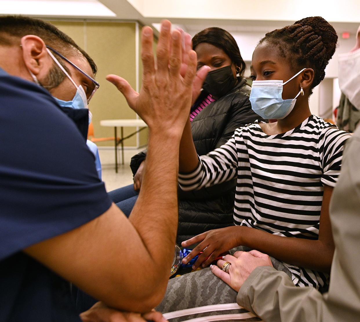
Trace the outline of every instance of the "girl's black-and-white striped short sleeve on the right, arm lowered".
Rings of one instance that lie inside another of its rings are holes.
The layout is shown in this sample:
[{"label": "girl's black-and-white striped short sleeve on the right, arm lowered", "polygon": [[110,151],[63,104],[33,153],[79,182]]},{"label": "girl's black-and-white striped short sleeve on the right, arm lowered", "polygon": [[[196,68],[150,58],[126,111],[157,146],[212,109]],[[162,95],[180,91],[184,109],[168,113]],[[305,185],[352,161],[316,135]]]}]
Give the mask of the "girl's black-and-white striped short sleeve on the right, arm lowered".
[{"label": "girl's black-and-white striped short sleeve on the right, arm lowered", "polygon": [[335,187],[341,170],[342,153],[351,134],[337,128],[326,128],[320,138],[320,157],[323,167],[321,183]]}]

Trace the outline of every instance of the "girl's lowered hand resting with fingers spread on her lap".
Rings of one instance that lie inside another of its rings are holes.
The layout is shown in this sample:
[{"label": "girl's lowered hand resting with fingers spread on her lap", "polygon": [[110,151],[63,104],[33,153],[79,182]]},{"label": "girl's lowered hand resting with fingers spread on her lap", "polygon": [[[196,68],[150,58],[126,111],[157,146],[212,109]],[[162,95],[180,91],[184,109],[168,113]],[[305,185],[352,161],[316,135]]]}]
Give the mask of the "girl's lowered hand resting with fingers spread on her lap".
[{"label": "girl's lowered hand resting with fingers spread on her lap", "polygon": [[[183,259],[183,263],[187,264],[203,250],[203,253],[199,256],[192,268],[195,270],[200,265],[202,267],[209,265],[221,253],[240,245],[239,235],[241,229],[241,226],[213,229],[185,240],[181,243],[183,247],[188,247],[195,243],[199,244]],[[206,259],[207,257],[208,259]]]}]

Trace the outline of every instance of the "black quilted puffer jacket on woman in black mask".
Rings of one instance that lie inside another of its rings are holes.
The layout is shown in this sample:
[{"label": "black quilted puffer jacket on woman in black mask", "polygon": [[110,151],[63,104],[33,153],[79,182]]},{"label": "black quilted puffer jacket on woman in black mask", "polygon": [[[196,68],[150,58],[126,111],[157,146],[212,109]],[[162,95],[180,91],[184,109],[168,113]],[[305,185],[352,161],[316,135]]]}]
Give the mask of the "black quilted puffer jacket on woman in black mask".
[{"label": "black quilted puffer jacket on woman in black mask", "polygon": [[[191,123],[198,155],[205,155],[226,143],[238,127],[253,123],[260,117],[253,112],[249,101],[251,87],[239,79],[235,88],[225,96],[206,106]],[[204,92],[204,91],[203,91]],[[207,93],[202,93],[195,106]],[[146,151],[131,158],[130,167],[135,175]],[[179,228],[177,243],[211,229],[233,225],[236,178],[200,190],[179,189]]]}]

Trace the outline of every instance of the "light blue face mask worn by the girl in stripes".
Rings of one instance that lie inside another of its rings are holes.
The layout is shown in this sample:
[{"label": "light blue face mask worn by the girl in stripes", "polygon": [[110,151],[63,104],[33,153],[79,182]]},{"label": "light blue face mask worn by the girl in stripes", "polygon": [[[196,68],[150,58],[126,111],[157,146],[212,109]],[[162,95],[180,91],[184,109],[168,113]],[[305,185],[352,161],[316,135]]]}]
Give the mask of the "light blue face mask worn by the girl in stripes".
[{"label": "light blue face mask worn by the girl in stripes", "polygon": [[293,78],[303,72],[303,68],[292,78],[283,83],[282,80],[254,80],[251,85],[250,102],[252,110],[263,119],[281,120],[290,114],[293,110],[296,98],[304,95],[301,91],[293,99],[283,100],[283,86]]}]

